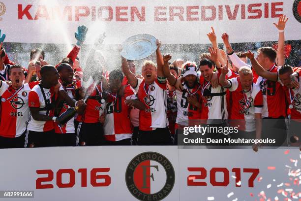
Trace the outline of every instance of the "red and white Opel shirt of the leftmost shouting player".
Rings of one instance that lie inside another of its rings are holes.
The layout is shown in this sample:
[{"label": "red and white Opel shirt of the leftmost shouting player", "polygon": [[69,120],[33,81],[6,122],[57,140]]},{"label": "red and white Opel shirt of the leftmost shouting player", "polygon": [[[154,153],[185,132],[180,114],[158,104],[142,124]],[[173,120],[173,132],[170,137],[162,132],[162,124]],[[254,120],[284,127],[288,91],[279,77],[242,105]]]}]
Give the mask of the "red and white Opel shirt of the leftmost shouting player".
[{"label": "red and white Opel shirt of the leftmost shouting player", "polygon": [[29,93],[39,82],[30,82],[15,90],[5,82],[0,81],[1,122],[0,136],[18,137],[26,130],[29,116]]}]

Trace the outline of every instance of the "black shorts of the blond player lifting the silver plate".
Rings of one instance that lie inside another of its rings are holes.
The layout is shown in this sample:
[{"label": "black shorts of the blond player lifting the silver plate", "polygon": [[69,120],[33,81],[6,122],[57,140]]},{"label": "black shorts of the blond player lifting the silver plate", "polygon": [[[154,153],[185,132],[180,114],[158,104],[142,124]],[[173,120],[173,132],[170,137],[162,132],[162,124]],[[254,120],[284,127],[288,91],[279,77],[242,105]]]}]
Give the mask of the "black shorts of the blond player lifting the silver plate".
[{"label": "black shorts of the blond player lifting the silver plate", "polygon": [[153,131],[139,130],[137,145],[172,145],[172,143],[168,127],[157,128]]}]

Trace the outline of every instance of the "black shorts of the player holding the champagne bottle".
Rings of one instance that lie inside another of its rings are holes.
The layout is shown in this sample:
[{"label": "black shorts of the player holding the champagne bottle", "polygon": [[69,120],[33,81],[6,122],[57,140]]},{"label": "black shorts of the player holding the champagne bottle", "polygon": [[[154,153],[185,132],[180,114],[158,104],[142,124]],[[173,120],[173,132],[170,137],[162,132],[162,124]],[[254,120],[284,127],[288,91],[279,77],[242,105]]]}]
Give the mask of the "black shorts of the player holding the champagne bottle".
[{"label": "black shorts of the player holding the champagne bottle", "polygon": [[56,145],[55,130],[46,132],[27,131],[25,147],[50,147]]}]

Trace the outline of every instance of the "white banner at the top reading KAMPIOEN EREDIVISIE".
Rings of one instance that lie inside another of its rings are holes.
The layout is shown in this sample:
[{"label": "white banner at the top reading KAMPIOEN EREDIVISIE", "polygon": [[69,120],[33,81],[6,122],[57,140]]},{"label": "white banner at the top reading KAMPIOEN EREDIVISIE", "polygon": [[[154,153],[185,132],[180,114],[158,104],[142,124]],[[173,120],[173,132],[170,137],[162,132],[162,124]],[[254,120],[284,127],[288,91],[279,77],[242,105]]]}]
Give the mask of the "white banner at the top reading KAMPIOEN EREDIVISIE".
[{"label": "white banner at the top reading KAMPIOEN EREDIVISIE", "polygon": [[80,25],[90,30],[87,43],[103,32],[109,44],[138,33],[152,34],[165,44],[210,43],[206,33],[211,26],[218,42],[224,32],[231,42],[274,41],[278,30],[272,23],[285,14],[286,40],[299,40],[301,23],[293,15],[293,4],[294,0],[1,0],[0,29],[7,34],[6,42],[25,43],[74,43]]}]

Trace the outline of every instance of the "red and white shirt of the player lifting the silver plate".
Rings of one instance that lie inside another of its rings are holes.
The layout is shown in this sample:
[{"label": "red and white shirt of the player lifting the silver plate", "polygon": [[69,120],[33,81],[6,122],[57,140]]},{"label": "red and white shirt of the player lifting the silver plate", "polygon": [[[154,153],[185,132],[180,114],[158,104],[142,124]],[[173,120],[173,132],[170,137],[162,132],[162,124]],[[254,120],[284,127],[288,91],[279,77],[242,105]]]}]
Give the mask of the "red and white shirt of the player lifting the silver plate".
[{"label": "red and white shirt of the player lifting the silver plate", "polygon": [[147,107],[145,110],[140,110],[139,113],[139,129],[141,131],[152,131],[168,126],[166,89],[166,83],[160,84],[157,78],[150,85],[147,85],[144,79],[138,78],[138,85],[135,88],[136,96]]}]

